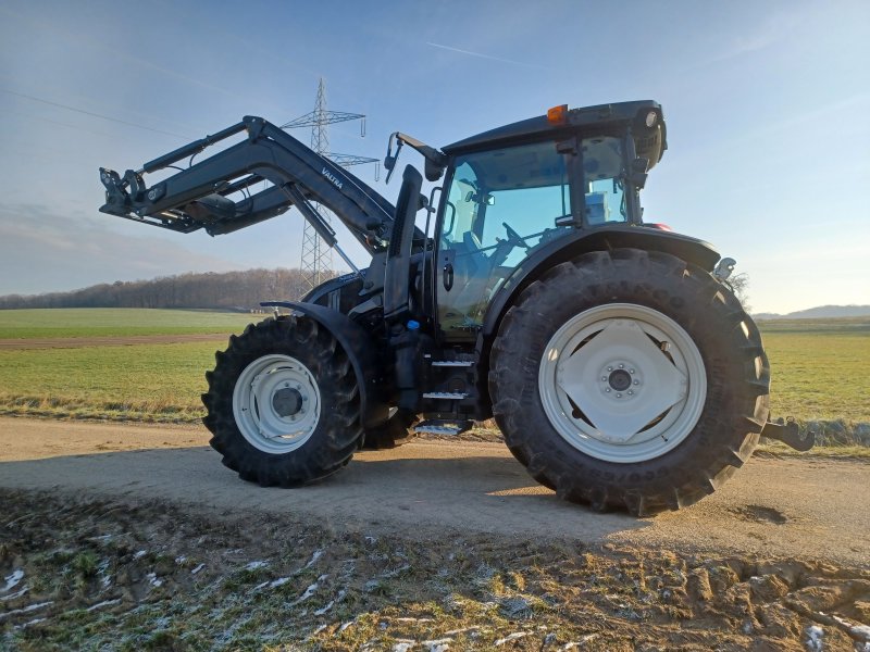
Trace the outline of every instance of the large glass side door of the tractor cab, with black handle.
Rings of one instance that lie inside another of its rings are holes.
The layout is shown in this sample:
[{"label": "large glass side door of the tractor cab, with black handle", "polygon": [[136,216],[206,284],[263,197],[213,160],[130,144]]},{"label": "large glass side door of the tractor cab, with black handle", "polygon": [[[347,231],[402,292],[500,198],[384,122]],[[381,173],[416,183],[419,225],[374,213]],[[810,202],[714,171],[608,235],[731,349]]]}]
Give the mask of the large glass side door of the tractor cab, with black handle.
[{"label": "large glass side door of the tractor cab, with black handle", "polygon": [[505,279],[535,247],[570,233],[569,156],[551,140],[457,156],[437,234],[444,341],[474,342]]}]

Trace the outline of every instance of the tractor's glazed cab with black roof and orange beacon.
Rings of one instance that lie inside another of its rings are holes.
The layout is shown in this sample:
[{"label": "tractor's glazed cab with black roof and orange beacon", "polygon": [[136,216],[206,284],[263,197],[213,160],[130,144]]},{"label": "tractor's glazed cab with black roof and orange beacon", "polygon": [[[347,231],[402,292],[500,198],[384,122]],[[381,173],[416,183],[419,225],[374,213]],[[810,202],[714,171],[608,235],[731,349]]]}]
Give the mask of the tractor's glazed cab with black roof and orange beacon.
[{"label": "tractor's glazed cab with black roof and orange beacon", "polygon": [[[434,150],[414,145],[432,179]],[[651,101],[556,106],[445,147],[428,279],[443,341],[473,342],[490,299],[526,261],[559,249],[557,241],[639,226],[639,191],[666,147],[661,106]]]}]

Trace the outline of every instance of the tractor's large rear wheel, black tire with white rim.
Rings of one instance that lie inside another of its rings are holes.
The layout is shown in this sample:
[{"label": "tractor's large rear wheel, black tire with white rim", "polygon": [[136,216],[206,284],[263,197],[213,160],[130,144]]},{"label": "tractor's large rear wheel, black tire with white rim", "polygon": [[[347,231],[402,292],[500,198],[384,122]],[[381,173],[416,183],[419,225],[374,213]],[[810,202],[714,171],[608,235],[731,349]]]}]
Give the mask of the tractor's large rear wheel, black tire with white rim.
[{"label": "tractor's large rear wheel, black tire with white rim", "polygon": [[550,269],[493,344],[496,422],[535,479],[636,515],[689,505],[743,465],[768,417],[761,338],[708,272],[659,252]]}]

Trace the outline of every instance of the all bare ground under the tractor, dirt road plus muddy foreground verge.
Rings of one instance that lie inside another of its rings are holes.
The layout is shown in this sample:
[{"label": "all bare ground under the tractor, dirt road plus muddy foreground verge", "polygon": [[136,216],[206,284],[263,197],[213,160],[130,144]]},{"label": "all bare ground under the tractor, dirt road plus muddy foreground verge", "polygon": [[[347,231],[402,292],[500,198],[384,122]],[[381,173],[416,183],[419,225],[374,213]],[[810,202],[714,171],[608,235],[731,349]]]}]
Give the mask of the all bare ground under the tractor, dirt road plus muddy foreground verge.
[{"label": "all bare ground under the tractor, dirt road plus muddy foreground verge", "polygon": [[870,465],[751,460],[656,518],[500,444],[241,482],[198,427],[0,419],[0,648],[870,652]]}]

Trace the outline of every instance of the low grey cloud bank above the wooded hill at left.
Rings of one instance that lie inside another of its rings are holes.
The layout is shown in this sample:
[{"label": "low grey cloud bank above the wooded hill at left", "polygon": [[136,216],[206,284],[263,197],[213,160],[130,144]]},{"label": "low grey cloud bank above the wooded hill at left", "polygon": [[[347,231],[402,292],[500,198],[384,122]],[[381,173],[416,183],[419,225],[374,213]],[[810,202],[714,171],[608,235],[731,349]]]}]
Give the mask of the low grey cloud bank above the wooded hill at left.
[{"label": "low grey cloud bank above the wooded hill at left", "polygon": [[[112,220],[60,216],[33,204],[0,206],[0,296],[238,268],[172,240],[115,230]],[[134,225],[129,229],[144,230]]]}]

